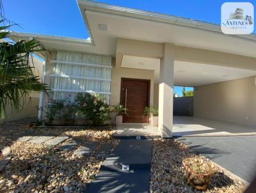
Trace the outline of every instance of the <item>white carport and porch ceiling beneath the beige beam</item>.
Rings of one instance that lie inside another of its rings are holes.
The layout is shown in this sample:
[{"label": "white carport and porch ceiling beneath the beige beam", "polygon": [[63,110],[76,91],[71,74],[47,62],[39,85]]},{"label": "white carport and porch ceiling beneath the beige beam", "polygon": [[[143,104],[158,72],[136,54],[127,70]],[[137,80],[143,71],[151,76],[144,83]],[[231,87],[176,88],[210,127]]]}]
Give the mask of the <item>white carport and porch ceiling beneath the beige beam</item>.
[{"label": "white carport and porch ceiling beneath the beige beam", "polygon": [[[154,70],[154,82],[159,83],[160,59],[123,56],[121,66],[125,68]],[[254,75],[256,75],[255,70],[174,61],[175,86],[202,86],[216,82],[252,77]]]}]

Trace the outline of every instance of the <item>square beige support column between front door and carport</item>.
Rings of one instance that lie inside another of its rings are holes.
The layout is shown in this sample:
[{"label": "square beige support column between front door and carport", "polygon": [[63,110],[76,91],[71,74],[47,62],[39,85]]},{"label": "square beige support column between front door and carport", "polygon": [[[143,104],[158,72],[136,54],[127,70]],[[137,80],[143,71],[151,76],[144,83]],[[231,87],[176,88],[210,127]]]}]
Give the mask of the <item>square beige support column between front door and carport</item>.
[{"label": "square beige support column between front door and carport", "polygon": [[174,45],[164,43],[160,62],[158,130],[161,137],[172,137]]}]

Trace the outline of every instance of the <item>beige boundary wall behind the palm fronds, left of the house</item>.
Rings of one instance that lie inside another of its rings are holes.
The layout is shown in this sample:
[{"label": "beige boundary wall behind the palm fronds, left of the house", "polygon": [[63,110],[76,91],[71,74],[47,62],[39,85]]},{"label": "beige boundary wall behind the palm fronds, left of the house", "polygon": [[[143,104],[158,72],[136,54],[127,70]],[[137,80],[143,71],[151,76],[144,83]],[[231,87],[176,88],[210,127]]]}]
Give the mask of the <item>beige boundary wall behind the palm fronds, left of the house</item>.
[{"label": "beige boundary wall behind the palm fronds, left of the house", "polygon": [[[33,63],[35,66],[35,75],[41,76],[42,73],[42,66],[43,62],[37,58],[33,58]],[[20,111],[12,110],[12,106],[8,105],[6,107],[6,116],[4,120],[1,121],[13,121],[19,120],[22,118],[33,118],[38,116],[38,104],[39,104],[39,95],[40,93],[31,92],[30,99],[29,97],[26,98],[25,105]]]}]

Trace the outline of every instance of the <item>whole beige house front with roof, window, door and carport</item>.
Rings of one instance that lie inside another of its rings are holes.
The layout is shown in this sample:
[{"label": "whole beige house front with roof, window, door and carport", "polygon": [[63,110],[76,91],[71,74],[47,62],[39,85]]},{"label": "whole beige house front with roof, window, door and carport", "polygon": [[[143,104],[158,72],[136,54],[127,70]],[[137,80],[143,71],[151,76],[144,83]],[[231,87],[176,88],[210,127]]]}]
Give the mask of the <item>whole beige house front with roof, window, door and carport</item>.
[{"label": "whole beige house front with roof, window, door and carport", "polygon": [[[172,137],[173,86],[191,86],[194,116],[256,127],[255,35],[224,35],[215,24],[95,1],[77,4],[86,40],[15,33],[51,52],[43,79],[52,98],[100,93],[129,109],[125,123],[147,123],[143,109],[156,105],[159,134]],[[42,94],[40,106],[47,103]]]}]

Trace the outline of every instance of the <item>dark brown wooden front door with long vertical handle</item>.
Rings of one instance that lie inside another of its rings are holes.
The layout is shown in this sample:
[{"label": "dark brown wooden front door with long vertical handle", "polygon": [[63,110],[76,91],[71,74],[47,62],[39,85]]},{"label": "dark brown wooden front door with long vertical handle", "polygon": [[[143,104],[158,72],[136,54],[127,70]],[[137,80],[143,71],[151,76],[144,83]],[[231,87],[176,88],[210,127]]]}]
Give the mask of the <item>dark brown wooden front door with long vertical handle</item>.
[{"label": "dark brown wooden front door with long vertical handle", "polygon": [[123,123],[148,123],[148,116],[142,117],[144,108],[149,105],[150,80],[121,79],[120,104],[128,109]]}]

